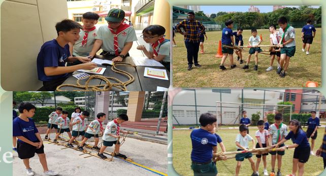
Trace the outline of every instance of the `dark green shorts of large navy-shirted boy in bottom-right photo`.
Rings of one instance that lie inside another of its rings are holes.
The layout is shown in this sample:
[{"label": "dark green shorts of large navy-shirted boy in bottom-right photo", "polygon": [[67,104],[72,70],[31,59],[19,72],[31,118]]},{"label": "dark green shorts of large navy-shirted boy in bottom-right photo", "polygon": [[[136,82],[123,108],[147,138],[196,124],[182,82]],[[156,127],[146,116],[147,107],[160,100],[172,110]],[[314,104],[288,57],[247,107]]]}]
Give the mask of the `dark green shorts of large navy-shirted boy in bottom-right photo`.
[{"label": "dark green shorts of large navy-shirted boy in bottom-right photo", "polygon": [[194,176],[215,176],[217,168],[214,162],[207,164],[191,163]]}]

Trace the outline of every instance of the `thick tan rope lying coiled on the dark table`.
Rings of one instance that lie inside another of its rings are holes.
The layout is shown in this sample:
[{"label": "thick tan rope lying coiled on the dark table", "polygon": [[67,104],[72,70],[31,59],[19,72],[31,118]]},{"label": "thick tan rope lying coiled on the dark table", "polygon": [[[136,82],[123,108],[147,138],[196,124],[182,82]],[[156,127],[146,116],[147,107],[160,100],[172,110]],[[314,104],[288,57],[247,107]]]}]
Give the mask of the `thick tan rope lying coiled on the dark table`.
[{"label": "thick tan rope lying coiled on the dark table", "polygon": [[[131,67],[135,67],[135,65],[129,64],[129,63],[125,63],[125,62],[118,62],[118,63],[114,63],[111,67],[111,70],[115,73],[118,73],[120,75],[123,75],[125,77],[128,78],[128,81],[122,82],[114,77],[105,77],[102,75],[91,75],[88,77],[85,77],[85,79],[88,78],[88,80],[85,82],[85,85],[81,85],[80,81],[81,80],[77,80],[77,85],[75,84],[62,84],[60,86],[58,86],[56,88],[56,91],[58,92],[62,92],[64,90],[61,90],[60,88],[62,87],[76,87],[76,88],[80,88],[82,90],[76,89],[76,90],[72,90],[72,91],[109,91],[112,89],[112,87],[116,87],[118,89],[121,89],[122,91],[126,91],[127,88],[126,86],[133,83],[135,81],[135,78],[132,74],[129,74],[128,72],[122,71],[121,69],[118,69],[117,66],[131,66]],[[105,81],[106,84],[101,84],[101,85],[89,85],[89,82],[93,79],[100,79]],[[117,83],[111,83],[110,80],[116,81]],[[102,87],[102,88],[101,88]]]}]

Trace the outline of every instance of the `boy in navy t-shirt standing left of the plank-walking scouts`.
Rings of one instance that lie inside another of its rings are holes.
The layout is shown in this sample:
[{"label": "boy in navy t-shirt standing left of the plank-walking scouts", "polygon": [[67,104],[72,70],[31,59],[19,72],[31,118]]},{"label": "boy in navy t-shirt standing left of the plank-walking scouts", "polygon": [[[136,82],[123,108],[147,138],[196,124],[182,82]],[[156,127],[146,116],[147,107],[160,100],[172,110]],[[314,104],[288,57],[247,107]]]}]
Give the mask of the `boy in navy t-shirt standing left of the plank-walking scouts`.
[{"label": "boy in navy t-shirt standing left of the plank-walking scouts", "polygon": [[45,175],[57,175],[58,172],[48,169],[46,157],[44,154],[44,145],[34,121],[31,119],[36,107],[31,103],[21,103],[18,107],[20,115],[13,120],[13,136],[18,138],[17,153],[23,160],[27,175],[35,173],[29,166],[29,158],[38,154]]}]

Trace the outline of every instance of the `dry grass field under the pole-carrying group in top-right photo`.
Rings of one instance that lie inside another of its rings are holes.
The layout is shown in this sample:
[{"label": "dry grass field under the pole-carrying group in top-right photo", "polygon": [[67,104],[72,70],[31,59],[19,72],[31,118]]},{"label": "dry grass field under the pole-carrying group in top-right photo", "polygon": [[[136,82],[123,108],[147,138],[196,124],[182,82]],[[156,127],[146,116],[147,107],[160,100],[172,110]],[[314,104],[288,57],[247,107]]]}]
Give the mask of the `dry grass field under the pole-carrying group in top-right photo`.
[{"label": "dry grass field under the pole-carrying group in top-right photo", "polygon": [[[274,69],[266,72],[270,64],[269,55],[258,55],[258,71],[253,70],[254,55],[251,56],[249,69],[242,69],[244,64],[237,61],[237,67],[230,68],[229,57],[225,61],[226,70],[218,68],[221,58],[216,58],[218,41],[221,40],[221,31],[208,31],[208,40],[204,42],[204,54],[199,53],[199,63],[201,68],[193,67],[187,71],[187,52],[183,41],[183,36],[176,33],[175,41],[177,47],[173,48],[173,87],[304,87],[307,81],[316,81],[321,84],[321,28],[316,29],[316,36],[310,48],[310,55],[302,52],[301,28],[296,28],[296,53],[291,58],[287,75],[280,78],[276,74],[277,61],[274,60]],[[263,35],[262,45],[269,45],[268,29],[258,30],[258,35]],[[244,45],[248,45],[251,36],[250,30],[244,30]],[[262,48],[268,49],[268,48]],[[248,51],[244,51],[243,60],[247,60]]]}]

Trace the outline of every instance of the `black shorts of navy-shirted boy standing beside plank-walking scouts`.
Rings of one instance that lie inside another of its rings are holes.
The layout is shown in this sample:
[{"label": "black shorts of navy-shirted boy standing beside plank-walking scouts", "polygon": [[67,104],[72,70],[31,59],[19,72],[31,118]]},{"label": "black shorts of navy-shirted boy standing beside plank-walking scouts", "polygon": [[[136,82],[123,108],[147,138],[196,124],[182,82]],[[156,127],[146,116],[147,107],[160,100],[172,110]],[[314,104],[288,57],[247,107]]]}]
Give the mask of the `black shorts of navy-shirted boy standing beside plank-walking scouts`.
[{"label": "black shorts of navy-shirted boy standing beside plank-walking scouts", "polygon": [[[35,143],[38,143],[38,141]],[[23,142],[20,142],[20,140],[18,140],[17,141],[17,153],[18,153],[18,157],[20,159],[32,158],[32,157],[34,157],[35,153],[37,153],[37,154],[44,153],[44,145],[42,145],[42,147],[40,149],[37,149],[36,147],[34,147],[30,144],[23,143]]]}]

